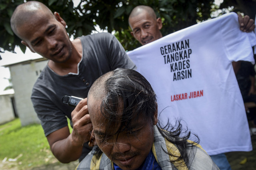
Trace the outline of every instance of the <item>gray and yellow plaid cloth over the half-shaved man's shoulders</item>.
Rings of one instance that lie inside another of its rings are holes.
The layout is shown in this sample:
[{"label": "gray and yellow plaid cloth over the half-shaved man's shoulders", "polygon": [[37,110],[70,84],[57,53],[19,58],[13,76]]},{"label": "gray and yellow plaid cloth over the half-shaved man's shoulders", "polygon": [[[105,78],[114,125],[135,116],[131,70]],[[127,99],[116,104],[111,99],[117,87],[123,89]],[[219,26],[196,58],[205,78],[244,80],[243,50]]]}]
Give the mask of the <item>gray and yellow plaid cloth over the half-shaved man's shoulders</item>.
[{"label": "gray and yellow plaid cloth over the half-shaved man's shoulders", "polygon": [[[191,141],[188,140],[188,142]],[[176,156],[179,156],[180,152],[174,144],[162,136],[156,125],[154,126],[154,144],[152,146],[152,152],[162,170],[219,170],[202,147],[199,144],[195,145],[196,147],[188,148],[187,150],[189,157],[187,164],[185,164],[184,160],[172,164],[170,160],[176,158],[166,154],[166,152],[170,152]],[[76,170],[114,170],[113,162],[111,162],[104,153],[99,159],[96,159],[94,153],[95,150],[92,149],[80,164],[78,164]]]}]

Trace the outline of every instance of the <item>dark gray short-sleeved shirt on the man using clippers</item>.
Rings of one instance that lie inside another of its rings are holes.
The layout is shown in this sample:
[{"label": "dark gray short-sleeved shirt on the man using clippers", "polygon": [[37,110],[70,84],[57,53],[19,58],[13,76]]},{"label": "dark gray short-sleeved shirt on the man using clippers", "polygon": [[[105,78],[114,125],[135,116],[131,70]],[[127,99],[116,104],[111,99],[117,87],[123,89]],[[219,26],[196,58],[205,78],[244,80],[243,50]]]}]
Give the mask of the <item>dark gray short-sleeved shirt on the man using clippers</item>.
[{"label": "dark gray short-sleeved shirt on the man using clippers", "polygon": [[68,126],[74,110],[62,103],[64,95],[86,98],[92,83],[104,73],[116,68],[135,69],[118,40],[109,33],[80,37],[83,47],[78,73],[60,76],[48,65],[43,69],[32,89],[31,100],[41,121],[44,134]]}]

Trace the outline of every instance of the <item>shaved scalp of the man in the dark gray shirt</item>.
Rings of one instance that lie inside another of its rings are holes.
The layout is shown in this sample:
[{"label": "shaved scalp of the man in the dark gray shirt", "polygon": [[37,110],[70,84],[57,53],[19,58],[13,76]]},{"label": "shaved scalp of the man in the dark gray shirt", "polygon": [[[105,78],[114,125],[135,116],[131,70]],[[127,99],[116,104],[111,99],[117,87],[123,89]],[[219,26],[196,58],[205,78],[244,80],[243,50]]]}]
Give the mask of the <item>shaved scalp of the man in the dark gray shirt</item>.
[{"label": "shaved scalp of the man in the dark gray shirt", "polygon": [[18,37],[21,38],[21,35],[19,35],[17,28],[24,24],[31,23],[32,16],[54,18],[52,11],[41,2],[29,1],[24,4],[20,4],[14,10],[10,21],[12,30]]}]

